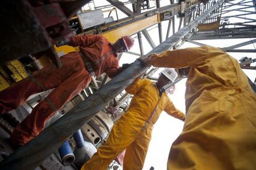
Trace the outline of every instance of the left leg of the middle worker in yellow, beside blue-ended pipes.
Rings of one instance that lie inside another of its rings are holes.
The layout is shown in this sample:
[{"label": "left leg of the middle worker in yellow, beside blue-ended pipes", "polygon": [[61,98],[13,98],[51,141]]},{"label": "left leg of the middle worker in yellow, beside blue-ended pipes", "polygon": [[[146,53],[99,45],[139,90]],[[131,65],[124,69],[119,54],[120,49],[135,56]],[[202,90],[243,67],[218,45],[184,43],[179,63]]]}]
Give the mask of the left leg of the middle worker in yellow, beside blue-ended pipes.
[{"label": "left leg of the middle worker in yellow, beside blue-ended pipes", "polygon": [[[129,113],[124,113],[129,115]],[[136,114],[136,113],[135,113]],[[138,113],[137,113],[138,114]],[[128,118],[127,118],[128,117]],[[130,124],[129,116],[122,116],[113,126],[106,143],[98,148],[92,158],[83,164],[83,170],[106,169],[109,164],[134,141],[139,134],[136,124]],[[141,127],[142,128],[142,127]]]}]

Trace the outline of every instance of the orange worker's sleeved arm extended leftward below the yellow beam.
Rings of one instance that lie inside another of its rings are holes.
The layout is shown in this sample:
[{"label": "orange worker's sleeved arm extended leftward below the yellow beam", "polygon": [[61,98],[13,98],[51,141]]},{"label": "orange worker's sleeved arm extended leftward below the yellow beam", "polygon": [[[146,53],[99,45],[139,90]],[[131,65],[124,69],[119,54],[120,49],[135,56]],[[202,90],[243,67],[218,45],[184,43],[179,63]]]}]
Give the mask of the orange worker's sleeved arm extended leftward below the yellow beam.
[{"label": "orange worker's sleeved arm extended leftward below the yellow beam", "polygon": [[69,38],[69,46],[77,47],[87,47],[93,43],[100,41],[102,35],[98,34],[80,34],[77,36],[72,36]]}]

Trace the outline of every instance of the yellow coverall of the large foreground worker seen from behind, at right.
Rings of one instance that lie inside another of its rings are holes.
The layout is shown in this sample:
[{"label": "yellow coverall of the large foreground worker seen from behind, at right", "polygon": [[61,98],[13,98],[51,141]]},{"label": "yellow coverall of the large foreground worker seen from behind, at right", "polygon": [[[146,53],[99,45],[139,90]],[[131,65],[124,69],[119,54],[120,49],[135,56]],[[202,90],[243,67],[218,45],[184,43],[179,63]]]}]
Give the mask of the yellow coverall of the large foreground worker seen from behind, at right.
[{"label": "yellow coverall of the large foreground worker seen from behind, at right", "polygon": [[168,169],[255,169],[256,95],[236,59],[203,46],[153,54],[155,67],[191,67],[186,121]]}]

